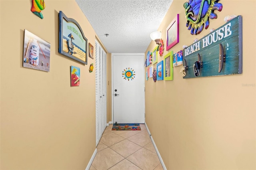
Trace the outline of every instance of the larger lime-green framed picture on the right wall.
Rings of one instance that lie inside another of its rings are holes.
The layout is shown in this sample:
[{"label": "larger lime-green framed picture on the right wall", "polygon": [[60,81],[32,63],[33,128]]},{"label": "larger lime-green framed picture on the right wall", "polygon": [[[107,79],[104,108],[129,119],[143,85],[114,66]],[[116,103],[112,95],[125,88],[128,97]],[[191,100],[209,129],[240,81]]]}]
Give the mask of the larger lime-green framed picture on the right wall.
[{"label": "larger lime-green framed picture on the right wall", "polygon": [[172,51],[164,56],[164,80],[173,80]]}]

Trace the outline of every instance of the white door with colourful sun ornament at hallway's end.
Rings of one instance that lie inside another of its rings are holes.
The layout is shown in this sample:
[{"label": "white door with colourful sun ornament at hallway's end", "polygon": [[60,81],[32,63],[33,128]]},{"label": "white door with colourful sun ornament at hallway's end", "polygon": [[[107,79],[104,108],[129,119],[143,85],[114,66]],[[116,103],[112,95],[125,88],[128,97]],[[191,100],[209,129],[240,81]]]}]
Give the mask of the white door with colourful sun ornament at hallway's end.
[{"label": "white door with colourful sun ornament at hallway's end", "polygon": [[113,123],[145,123],[144,53],[112,53]]}]

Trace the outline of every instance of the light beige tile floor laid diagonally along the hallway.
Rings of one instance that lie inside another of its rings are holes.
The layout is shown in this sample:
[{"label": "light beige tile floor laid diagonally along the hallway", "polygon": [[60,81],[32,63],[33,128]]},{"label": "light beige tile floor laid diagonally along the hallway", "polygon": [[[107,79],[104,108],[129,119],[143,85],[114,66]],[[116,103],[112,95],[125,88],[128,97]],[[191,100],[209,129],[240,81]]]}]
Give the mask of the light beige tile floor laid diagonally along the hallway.
[{"label": "light beige tile floor laid diagonally along the hallway", "polygon": [[104,130],[90,170],[163,170],[144,124],[141,130]]}]

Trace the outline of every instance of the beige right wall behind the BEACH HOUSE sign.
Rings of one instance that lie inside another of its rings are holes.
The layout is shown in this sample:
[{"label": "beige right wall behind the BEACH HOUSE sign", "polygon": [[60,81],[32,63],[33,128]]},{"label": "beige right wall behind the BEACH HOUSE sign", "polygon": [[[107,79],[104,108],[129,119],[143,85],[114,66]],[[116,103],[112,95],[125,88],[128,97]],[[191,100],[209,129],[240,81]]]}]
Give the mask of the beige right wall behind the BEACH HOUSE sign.
[{"label": "beige right wall behind the BEACH HOUSE sign", "polygon": [[[145,81],[148,128],[168,170],[256,169],[256,1],[220,0],[218,18],[210,19],[209,28],[198,36],[186,28],[184,2],[173,1],[158,29],[165,42],[167,26],[180,14],[180,42],[169,51],[177,52],[224,25],[225,16],[242,15],[243,73],[182,79],[179,66],[173,81],[154,83],[150,78]],[[152,41],[145,55],[155,46]]]}]

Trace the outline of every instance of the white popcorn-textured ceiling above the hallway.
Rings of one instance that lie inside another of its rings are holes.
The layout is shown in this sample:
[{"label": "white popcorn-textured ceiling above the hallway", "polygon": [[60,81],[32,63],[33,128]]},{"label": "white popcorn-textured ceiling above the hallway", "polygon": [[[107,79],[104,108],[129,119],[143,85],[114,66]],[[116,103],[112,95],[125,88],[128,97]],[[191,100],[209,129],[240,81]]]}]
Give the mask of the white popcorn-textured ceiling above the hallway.
[{"label": "white popcorn-textured ceiling above the hallway", "polygon": [[[76,0],[109,53],[144,53],[172,0]],[[109,34],[108,37],[105,34]]]}]

